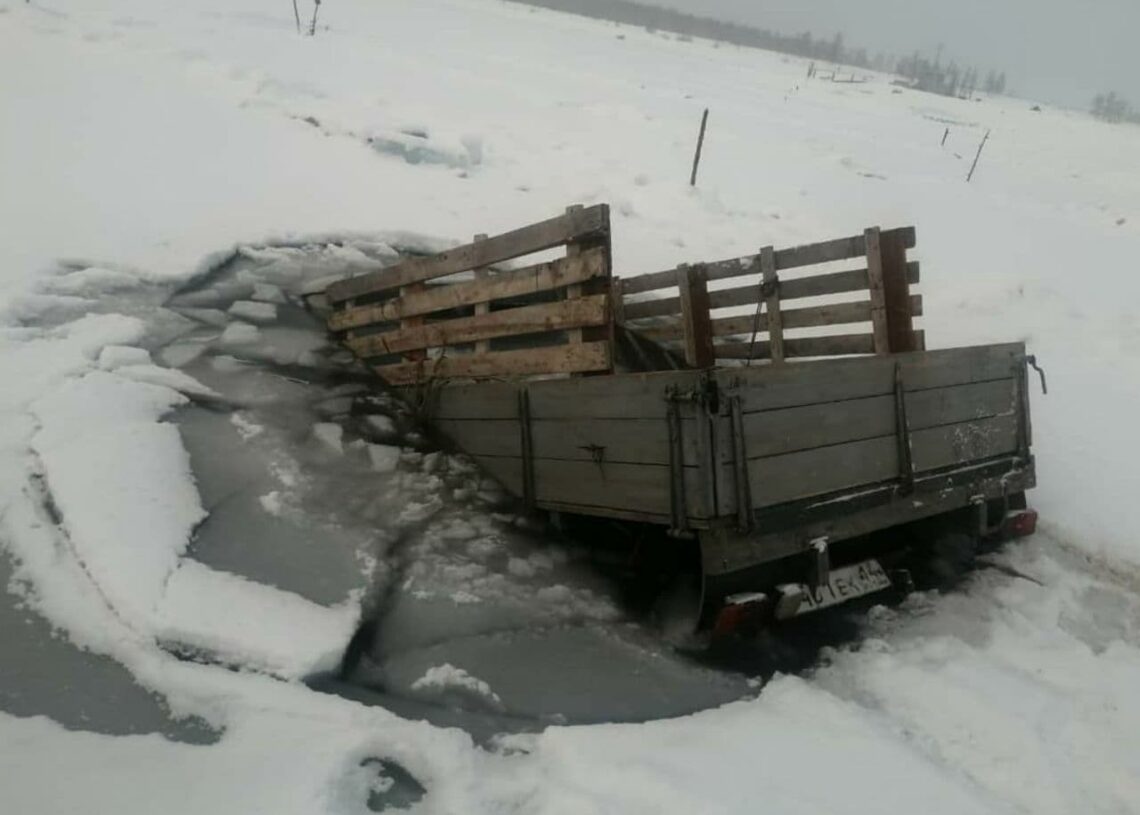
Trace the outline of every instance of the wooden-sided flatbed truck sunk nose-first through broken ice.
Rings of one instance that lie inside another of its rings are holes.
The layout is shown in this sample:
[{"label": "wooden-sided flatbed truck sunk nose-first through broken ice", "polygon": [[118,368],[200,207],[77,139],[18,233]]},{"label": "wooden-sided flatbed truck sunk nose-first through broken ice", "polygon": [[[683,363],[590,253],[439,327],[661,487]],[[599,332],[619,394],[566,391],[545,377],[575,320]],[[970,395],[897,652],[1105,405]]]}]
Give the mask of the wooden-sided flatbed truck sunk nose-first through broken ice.
[{"label": "wooden-sided flatbed truck sunk nose-first through broken ice", "polygon": [[1035,360],[926,350],[915,243],[873,227],[620,277],[609,207],[572,206],[316,305],[443,443],[725,634],[905,586],[903,554],[947,535],[1035,529]]}]

